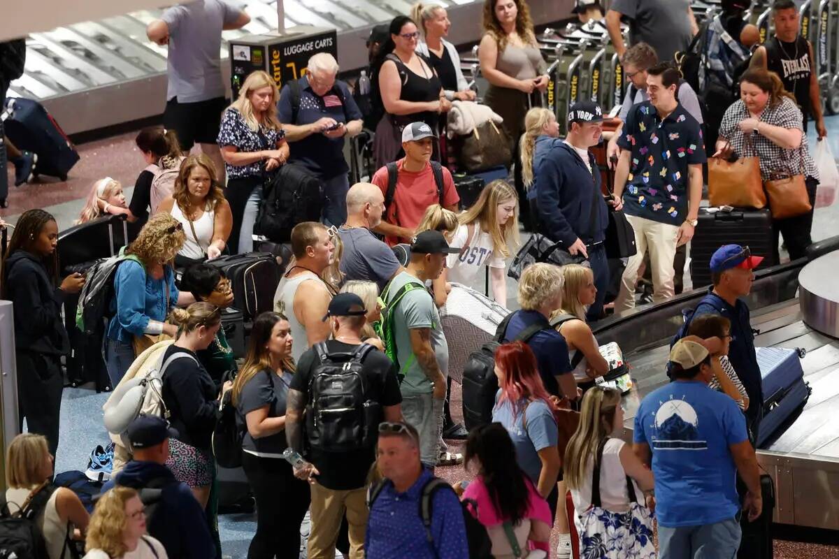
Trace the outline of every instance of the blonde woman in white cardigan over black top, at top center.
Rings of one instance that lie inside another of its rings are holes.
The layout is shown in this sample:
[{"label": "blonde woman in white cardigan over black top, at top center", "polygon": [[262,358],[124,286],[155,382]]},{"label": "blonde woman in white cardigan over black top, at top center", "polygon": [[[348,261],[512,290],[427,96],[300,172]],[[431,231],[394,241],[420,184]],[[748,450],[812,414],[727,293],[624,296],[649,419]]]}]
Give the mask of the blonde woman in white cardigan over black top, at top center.
[{"label": "blonde woman in white cardigan over black top, at top center", "polygon": [[[454,44],[444,37],[449,34],[451,21],[446,8],[440,4],[415,3],[411,6],[411,19],[420,31],[416,51],[437,71],[446,99],[449,101],[475,101],[475,91],[469,89],[461,70],[461,57]],[[425,40],[423,40],[425,39]]]}]

